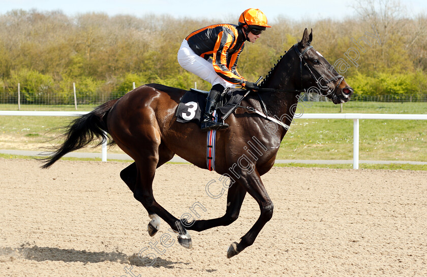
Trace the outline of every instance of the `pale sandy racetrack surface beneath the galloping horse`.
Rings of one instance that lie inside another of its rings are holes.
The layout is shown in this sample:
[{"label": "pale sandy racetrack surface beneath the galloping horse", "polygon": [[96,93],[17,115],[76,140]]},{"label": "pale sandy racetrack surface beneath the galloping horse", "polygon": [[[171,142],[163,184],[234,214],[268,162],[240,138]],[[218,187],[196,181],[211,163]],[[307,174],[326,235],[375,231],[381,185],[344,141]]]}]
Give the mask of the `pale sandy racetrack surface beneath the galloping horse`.
[{"label": "pale sandy racetrack surface beneath the galloping horse", "polygon": [[[147,212],[119,177],[127,165],[59,161],[42,170],[37,161],[0,159],[0,275],[427,275],[426,171],[275,167],[263,176],[273,218],[227,259],[259,216],[252,197],[230,226],[190,231],[193,248],[185,249],[164,222],[148,235]],[[166,164],[154,195],[175,217],[198,202],[200,219],[217,218],[226,195],[213,199],[205,187],[219,176]],[[209,191],[219,194],[219,182]],[[138,253],[153,255],[142,261]]]}]

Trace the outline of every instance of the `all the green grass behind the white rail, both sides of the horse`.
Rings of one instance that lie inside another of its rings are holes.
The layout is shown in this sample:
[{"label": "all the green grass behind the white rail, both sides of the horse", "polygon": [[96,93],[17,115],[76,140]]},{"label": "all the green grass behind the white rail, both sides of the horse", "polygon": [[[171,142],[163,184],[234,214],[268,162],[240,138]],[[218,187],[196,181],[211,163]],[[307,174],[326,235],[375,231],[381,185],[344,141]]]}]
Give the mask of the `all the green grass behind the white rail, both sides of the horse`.
[{"label": "all the green grass behind the white rail, both sides of the horse", "polygon": [[[300,104],[304,113],[339,113],[340,105],[331,102]],[[17,105],[0,104],[0,110]],[[349,102],[344,113],[414,113],[426,114],[427,103]],[[89,111],[94,105],[79,106]],[[21,110],[73,111],[74,106],[21,105]],[[39,150],[49,146],[45,141],[64,129],[71,117],[61,116],[0,116],[0,148]],[[427,161],[427,120],[359,120],[359,159],[388,161]],[[100,152],[100,148],[84,148],[84,152]],[[108,150],[120,153],[118,147]],[[295,119],[284,137],[277,159],[352,160],[353,120]],[[329,166],[329,165],[328,165]],[[371,166],[371,165],[368,165]],[[387,165],[387,168],[391,166]],[[414,167],[415,168],[415,167]]]}]

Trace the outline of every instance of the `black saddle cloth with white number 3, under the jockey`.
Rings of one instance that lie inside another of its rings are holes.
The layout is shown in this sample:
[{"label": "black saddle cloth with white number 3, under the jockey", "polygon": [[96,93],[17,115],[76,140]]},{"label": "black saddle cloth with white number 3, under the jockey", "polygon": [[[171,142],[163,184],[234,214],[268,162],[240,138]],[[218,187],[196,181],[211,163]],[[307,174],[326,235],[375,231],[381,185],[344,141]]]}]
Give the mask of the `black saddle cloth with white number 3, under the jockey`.
[{"label": "black saddle cloth with white number 3, under the jockey", "polygon": [[[246,90],[234,88],[221,96],[216,107],[218,121],[241,101],[245,93]],[[193,89],[187,91],[176,108],[176,121],[182,123],[194,122],[200,125],[200,120],[206,106],[206,98],[207,91]]]}]

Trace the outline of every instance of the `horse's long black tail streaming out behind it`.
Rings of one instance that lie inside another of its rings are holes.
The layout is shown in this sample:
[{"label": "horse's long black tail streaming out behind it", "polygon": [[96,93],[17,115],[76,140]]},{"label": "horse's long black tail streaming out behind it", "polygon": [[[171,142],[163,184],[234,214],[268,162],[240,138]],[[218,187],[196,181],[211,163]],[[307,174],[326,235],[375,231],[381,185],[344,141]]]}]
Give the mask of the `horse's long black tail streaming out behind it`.
[{"label": "horse's long black tail streaming out behind it", "polygon": [[62,135],[65,138],[64,143],[54,147],[56,151],[51,156],[40,159],[44,163],[42,168],[50,167],[68,152],[87,146],[94,138],[100,140],[96,146],[104,143],[107,140],[104,131],[108,132],[107,114],[117,100],[108,101],[71,121],[66,133]]}]

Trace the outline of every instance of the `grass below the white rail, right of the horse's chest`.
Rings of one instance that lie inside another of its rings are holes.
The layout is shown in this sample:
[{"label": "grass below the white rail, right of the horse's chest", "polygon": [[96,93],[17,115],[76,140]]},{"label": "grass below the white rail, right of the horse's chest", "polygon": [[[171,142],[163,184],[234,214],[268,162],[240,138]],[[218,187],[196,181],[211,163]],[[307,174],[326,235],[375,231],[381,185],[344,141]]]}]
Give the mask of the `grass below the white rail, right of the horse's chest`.
[{"label": "grass below the white rail, right of the horse's chest", "polygon": [[[427,120],[359,120],[360,160],[427,161]],[[297,119],[278,159],[351,160],[353,120]]]}]

